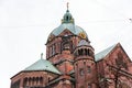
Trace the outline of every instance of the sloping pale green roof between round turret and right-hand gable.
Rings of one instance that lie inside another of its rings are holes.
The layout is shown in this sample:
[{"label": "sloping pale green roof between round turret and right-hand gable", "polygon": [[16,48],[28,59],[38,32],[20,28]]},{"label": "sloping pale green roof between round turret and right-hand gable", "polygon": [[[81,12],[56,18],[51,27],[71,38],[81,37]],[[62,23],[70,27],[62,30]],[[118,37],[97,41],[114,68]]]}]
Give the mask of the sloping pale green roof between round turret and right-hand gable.
[{"label": "sloping pale green roof between round turret and right-hand gable", "polygon": [[103,57],[106,57],[114,47],[116,47],[117,44],[106,48],[105,51],[98,53],[95,55],[95,61],[98,62],[100,59],[102,59]]}]

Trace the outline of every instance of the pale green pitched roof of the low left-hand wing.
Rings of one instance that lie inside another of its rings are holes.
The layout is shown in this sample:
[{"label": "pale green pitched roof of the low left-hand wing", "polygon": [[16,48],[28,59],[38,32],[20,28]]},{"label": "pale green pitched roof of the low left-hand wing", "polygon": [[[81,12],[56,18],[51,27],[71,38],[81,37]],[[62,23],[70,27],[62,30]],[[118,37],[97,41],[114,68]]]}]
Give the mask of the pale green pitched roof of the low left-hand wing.
[{"label": "pale green pitched roof of the low left-hand wing", "polygon": [[55,74],[61,74],[57,68],[52,65],[51,62],[42,58],[31,66],[26,67],[24,70],[48,70]]}]

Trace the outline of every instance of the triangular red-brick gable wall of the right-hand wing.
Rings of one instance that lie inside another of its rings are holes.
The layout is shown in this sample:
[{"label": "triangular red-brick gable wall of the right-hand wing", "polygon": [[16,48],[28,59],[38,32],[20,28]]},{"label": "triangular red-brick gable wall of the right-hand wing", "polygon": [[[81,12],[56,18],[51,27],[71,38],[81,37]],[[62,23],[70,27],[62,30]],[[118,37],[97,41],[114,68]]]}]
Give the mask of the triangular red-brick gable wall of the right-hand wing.
[{"label": "triangular red-brick gable wall of the right-hand wing", "polygon": [[108,56],[109,57],[105,57],[103,59],[106,59],[109,64],[121,68],[128,69],[128,65],[131,63],[128,54],[120,43],[117,44],[114,50]]}]

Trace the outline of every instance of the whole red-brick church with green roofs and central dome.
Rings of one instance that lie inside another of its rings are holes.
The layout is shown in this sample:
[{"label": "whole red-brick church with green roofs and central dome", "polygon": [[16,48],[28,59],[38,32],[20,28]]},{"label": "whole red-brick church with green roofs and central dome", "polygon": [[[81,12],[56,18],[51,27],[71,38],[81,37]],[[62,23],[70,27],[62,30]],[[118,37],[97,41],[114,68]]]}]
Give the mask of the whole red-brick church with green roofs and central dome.
[{"label": "whole red-brick church with green roofs and central dome", "polygon": [[120,43],[95,54],[68,8],[47,37],[46,58],[11,77],[10,88],[132,88],[132,62]]}]

